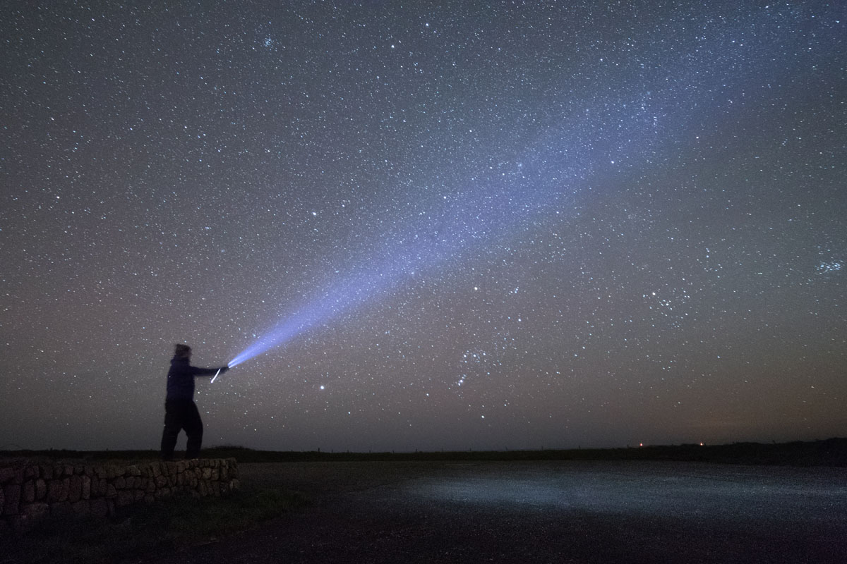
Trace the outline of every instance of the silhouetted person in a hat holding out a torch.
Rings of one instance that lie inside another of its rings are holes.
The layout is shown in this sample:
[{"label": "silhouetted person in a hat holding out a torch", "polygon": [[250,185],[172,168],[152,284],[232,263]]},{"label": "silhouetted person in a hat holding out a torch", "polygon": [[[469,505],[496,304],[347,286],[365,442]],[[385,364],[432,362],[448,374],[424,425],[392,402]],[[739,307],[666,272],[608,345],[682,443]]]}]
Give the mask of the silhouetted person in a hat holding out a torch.
[{"label": "silhouetted person in a hat holding out a torch", "polygon": [[162,431],[162,459],[173,460],[176,438],[185,429],[188,443],[185,458],[197,458],[203,441],[203,422],[194,402],[194,377],[211,376],[218,370],[230,370],[228,366],[197,368],[191,366],[191,347],[176,345],[174,358],[168,370],[168,395],[164,400],[164,430]]}]

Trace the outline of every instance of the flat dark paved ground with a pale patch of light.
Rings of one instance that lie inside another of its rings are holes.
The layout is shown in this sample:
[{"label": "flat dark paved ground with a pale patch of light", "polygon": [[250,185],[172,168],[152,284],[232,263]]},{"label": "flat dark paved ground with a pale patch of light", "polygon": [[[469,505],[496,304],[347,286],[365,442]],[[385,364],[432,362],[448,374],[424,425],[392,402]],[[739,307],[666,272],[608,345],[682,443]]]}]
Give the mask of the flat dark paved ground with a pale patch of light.
[{"label": "flat dark paved ground with a pale patch of light", "polygon": [[303,512],[146,563],[847,562],[847,469],[668,462],[241,464]]}]

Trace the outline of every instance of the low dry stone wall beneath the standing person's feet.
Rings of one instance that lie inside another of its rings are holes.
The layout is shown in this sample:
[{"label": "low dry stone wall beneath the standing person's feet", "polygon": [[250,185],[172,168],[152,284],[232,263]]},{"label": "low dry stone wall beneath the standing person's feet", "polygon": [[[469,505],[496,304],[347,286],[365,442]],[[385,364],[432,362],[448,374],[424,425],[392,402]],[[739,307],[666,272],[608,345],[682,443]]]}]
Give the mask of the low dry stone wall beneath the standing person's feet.
[{"label": "low dry stone wall beneath the standing person's feet", "polygon": [[238,488],[235,458],[195,458],[134,466],[20,464],[0,468],[0,535],[47,515],[106,517],[117,507],[176,492],[222,496]]}]

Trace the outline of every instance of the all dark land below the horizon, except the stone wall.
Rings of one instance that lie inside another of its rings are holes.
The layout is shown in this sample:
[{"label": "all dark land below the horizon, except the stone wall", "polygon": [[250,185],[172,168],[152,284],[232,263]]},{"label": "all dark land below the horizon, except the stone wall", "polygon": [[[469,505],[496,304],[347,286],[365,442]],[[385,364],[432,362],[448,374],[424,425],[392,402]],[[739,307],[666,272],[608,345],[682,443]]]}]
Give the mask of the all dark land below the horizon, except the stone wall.
[{"label": "all dark land below the horizon, except the stone wall", "polygon": [[45,523],[14,550],[0,546],[0,564],[847,562],[845,439],[396,454],[217,447],[204,456],[239,460],[236,496],[163,501],[91,531]]}]

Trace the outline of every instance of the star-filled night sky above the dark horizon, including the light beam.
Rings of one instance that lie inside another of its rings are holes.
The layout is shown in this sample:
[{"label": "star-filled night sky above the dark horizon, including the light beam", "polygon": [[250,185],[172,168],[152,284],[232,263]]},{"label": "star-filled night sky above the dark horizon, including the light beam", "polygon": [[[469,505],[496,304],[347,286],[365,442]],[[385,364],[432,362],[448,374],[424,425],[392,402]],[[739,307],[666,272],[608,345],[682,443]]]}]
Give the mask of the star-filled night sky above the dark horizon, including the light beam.
[{"label": "star-filled night sky above the dark horizon, including the light beam", "polygon": [[3,14],[0,448],[847,433],[844,3]]}]

